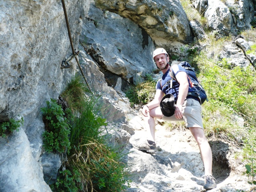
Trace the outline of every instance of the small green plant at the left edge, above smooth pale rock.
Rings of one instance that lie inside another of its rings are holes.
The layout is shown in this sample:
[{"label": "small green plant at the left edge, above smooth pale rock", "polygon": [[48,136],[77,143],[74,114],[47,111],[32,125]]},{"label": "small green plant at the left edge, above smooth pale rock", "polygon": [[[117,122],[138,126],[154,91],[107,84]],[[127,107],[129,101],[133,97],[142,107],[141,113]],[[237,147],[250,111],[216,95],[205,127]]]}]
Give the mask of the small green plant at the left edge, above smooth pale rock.
[{"label": "small green plant at the left edge, above smooth pale rock", "polygon": [[14,132],[14,130],[18,130],[17,128],[20,125],[23,125],[24,120],[21,118],[20,120],[14,120],[13,118],[10,121],[1,122],[0,123],[0,136],[6,138],[8,134]]}]

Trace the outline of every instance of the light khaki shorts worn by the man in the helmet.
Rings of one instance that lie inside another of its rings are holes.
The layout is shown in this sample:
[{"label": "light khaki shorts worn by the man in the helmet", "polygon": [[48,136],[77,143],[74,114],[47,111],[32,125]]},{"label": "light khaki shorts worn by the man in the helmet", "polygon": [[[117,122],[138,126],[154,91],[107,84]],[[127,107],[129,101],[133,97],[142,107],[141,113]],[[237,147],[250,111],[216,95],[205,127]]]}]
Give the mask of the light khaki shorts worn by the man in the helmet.
[{"label": "light khaki shorts worn by the man in the helmet", "polygon": [[166,117],[163,116],[161,120],[164,121],[185,121],[186,122],[186,128],[189,127],[199,127],[204,128],[203,121],[202,121],[202,107],[200,103],[197,100],[188,98],[184,101],[182,105],[182,114],[183,119],[176,119],[176,117],[170,116]]}]

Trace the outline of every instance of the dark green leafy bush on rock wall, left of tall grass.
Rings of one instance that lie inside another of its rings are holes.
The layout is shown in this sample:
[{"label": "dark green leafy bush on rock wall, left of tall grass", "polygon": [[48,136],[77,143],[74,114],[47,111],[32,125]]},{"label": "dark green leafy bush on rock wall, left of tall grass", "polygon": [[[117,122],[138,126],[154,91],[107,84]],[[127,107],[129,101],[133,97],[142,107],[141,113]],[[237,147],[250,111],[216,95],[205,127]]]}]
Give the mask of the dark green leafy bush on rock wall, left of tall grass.
[{"label": "dark green leafy bush on rock wall, left of tall grass", "polygon": [[43,147],[47,152],[63,153],[70,146],[68,139],[70,127],[64,117],[65,113],[56,100],[51,99],[51,102],[46,101],[46,104],[46,107],[41,108],[46,128],[42,135]]}]

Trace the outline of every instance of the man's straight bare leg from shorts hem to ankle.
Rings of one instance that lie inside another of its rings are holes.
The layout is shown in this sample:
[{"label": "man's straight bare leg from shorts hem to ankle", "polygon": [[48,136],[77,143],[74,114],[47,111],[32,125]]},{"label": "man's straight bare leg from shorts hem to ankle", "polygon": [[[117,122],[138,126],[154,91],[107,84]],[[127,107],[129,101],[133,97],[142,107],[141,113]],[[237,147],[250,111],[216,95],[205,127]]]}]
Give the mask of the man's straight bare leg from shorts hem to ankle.
[{"label": "man's straight bare leg from shorts hem to ankle", "polygon": [[212,175],[212,150],[204,135],[204,130],[198,127],[190,127],[189,130],[199,146],[205,175]]}]

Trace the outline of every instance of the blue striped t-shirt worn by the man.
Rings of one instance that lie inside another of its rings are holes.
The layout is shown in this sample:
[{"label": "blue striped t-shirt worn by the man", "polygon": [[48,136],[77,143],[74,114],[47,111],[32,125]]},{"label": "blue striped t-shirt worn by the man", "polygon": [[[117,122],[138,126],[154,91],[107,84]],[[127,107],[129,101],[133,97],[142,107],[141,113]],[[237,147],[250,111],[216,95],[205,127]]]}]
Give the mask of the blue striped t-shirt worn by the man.
[{"label": "blue striped t-shirt worn by the man", "polygon": [[[182,66],[177,64],[174,64],[170,68],[170,70],[172,70],[175,76],[181,71],[186,73],[186,70]],[[162,79],[158,80],[158,82],[156,83],[156,89],[161,90],[162,92],[164,92],[164,94],[172,94],[175,98],[175,101],[177,101],[178,99],[179,87],[180,84],[178,83],[178,81],[172,79],[169,70],[162,76]]]}]

